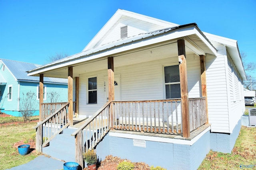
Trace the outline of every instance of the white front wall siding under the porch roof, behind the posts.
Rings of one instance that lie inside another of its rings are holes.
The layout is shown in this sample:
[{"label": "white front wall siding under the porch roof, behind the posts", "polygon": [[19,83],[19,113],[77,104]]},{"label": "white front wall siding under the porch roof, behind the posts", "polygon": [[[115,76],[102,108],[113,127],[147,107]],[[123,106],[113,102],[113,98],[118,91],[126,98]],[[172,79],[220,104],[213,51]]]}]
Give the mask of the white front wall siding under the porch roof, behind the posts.
[{"label": "white front wall siding under the porch roof, behind the posts", "polygon": [[[95,63],[97,64],[97,63]],[[106,63],[107,64],[107,63]],[[146,63],[115,67],[114,74],[120,74],[121,100],[159,100],[164,99],[164,66],[178,64],[178,57],[161,59]],[[200,60],[198,56],[187,56],[189,97],[200,97]],[[197,70],[194,70],[197,69]],[[193,75],[192,75],[193,74]],[[107,70],[87,72],[79,77],[79,116],[89,117],[106,102],[104,82]],[[88,77],[97,76],[97,104],[87,104]],[[192,80],[193,79],[193,80]],[[108,83],[108,82],[106,82]]]}]

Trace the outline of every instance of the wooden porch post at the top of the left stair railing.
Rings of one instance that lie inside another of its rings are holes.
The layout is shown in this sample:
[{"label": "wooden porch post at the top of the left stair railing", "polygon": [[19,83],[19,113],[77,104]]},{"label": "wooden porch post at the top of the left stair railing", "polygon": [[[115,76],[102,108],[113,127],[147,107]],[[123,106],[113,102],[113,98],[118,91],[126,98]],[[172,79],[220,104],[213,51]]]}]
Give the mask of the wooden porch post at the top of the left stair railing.
[{"label": "wooden porch post at the top of the left stair railing", "polygon": [[70,126],[73,126],[73,67],[68,67],[68,114]]}]

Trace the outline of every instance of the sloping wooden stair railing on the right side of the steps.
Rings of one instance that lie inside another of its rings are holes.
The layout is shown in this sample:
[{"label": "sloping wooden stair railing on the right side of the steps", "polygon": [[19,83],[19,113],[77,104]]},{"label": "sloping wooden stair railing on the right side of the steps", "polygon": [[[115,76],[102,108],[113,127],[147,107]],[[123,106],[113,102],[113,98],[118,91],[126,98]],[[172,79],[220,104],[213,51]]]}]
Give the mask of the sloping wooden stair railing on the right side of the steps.
[{"label": "sloping wooden stair railing on the right side of the steps", "polygon": [[112,113],[111,102],[106,103],[100,110],[98,110],[92,117],[77,131],[72,133],[75,137],[76,143],[76,162],[83,165],[83,152],[94,149],[98,142],[109,131],[112,121],[110,113]]}]

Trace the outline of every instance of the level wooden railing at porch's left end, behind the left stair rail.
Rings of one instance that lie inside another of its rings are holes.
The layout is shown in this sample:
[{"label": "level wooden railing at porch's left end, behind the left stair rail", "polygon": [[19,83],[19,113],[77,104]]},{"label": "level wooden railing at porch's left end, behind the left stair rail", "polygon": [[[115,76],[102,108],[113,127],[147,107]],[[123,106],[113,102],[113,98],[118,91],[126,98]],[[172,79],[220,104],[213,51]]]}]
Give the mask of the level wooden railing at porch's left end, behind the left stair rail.
[{"label": "level wooden railing at porch's left end, behind the left stair rail", "polygon": [[62,106],[64,106],[66,102],[62,103],[42,103],[42,117],[41,120],[43,121],[48,117],[49,115],[52,115],[55,111],[60,109]]}]

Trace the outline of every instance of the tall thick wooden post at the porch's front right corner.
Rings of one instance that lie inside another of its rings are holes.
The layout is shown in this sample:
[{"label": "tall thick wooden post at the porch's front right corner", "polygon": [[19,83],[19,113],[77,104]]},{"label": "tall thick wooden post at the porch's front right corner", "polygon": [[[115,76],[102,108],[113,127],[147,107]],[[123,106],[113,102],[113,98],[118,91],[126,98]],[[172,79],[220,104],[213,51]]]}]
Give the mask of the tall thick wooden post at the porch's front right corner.
[{"label": "tall thick wooden post at the porch's front right corner", "polygon": [[180,96],[181,96],[181,113],[182,113],[182,132],[183,137],[190,137],[190,122],[188,108],[188,79],[187,79],[187,63],[184,39],[178,40],[178,59],[180,70]]}]

